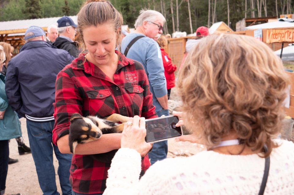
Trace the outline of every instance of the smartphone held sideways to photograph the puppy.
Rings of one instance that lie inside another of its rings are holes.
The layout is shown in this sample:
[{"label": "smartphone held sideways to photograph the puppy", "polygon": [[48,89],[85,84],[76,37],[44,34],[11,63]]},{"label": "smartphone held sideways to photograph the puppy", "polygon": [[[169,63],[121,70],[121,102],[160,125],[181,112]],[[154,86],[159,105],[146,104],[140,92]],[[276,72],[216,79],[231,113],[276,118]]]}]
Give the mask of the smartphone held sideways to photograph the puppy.
[{"label": "smartphone held sideways to photograph the puppy", "polygon": [[176,127],[179,118],[174,115],[146,119],[145,141],[154,143],[183,135],[181,127]]}]

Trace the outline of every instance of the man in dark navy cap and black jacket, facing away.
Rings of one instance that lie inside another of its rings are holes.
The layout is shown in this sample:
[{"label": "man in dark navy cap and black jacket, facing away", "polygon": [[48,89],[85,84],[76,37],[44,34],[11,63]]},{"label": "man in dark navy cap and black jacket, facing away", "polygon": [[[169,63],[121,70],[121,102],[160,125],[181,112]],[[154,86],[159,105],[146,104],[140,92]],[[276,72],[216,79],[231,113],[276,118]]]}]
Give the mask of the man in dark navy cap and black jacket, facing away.
[{"label": "man in dark navy cap and black jacket, facing away", "polygon": [[79,55],[78,45],[74,42],[77,24],[68,16],[59,18],[57,23],[59,37],[57,37],[53,45],[58,49],[68,51],[70,55],[77,58]]}]

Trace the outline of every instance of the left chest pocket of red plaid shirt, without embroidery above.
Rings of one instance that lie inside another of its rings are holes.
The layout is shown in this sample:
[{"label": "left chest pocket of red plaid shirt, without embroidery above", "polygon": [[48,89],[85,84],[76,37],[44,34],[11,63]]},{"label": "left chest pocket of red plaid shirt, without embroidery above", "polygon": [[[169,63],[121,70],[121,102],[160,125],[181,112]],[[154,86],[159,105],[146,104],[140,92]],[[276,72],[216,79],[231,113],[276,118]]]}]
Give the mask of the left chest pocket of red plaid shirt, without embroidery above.
[{"label": "left chest pocket of red plaid shirt, without embroidery above", "polygon": [[[114,113],[114,99],[109,89],[86,91],[90,115],[110,115]],[[86,105],[84,105],[86,106]]]}]

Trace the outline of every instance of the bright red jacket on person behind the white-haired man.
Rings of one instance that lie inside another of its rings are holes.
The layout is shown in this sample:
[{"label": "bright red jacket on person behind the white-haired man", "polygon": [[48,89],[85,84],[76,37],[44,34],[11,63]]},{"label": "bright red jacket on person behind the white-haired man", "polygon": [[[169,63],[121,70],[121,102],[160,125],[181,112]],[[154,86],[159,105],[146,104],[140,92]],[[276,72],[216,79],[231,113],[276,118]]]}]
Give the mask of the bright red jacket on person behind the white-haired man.
[{"label": "bright red jacket on person behind the white-haired man", "polygon": [[163,67],[164,67],[164,75],[166,78],[166,86],[167,86],[167,89],[170,89],[175,87],[174,72],[177,69],[177,66],[171,62],[171,58],[164,51],[164,49],[160,48],[160,51],[161,51]]}]

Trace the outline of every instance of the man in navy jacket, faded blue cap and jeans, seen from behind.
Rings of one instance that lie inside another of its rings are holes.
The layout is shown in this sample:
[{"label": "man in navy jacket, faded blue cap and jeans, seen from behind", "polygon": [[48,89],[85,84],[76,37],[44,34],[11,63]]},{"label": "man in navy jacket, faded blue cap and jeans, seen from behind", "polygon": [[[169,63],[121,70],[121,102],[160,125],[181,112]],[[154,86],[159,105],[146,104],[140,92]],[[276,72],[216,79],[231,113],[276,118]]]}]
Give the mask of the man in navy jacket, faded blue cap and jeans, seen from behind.
[{"label": "man in navy jacket, faded blue cap and jeans, seen from behind", "polygon": [[27,120],[28,138],[40,187],[44,195],[59,195],[55,182],[53,150],[58,159],[62,194],[71,194],[69,183],[71,154],[61,154],[52,144],[53,105],[58,72],[74,59],[67,51],[46,42],[42,28],[25,32],[25,45],[9,61],[6,94],[9,105]]}]

